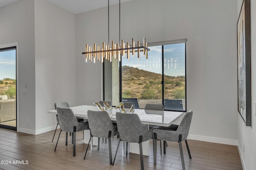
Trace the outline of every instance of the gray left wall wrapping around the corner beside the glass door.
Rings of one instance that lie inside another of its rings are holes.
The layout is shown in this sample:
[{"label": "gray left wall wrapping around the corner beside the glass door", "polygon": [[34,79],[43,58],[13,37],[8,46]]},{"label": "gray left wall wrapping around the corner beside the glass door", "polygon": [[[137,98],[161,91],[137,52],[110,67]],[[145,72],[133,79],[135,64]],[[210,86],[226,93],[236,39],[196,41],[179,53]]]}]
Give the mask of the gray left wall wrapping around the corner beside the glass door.
[{"label": "gray left wall wrapping around the corner beside the glass door", "polygon": [[75,21],[74,14],[46,0],[19,0],[0,8],[0,45],[19,44],[20,132],[55,129],[56,118],[47,111],[55,102],[76,104]]}]

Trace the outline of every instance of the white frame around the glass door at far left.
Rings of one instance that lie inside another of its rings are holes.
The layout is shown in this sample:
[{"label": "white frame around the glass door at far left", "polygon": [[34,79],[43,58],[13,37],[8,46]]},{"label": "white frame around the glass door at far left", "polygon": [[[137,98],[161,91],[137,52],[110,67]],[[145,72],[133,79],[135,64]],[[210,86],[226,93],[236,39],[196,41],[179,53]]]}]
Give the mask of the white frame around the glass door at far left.
[{"label": "white frame around the glass door at far left", "polygon": [[14,47],[16,46],[16,131],[19,132],[19,127],[20,127],[20,123],[19,123],[19,103],[20,103],[20,98],[19,98],[19,43],[15,42],[15,43],[9,43],[9,44],[3,44],[0,45],[0,49],[3,48],[8,48],[8,47]]}]

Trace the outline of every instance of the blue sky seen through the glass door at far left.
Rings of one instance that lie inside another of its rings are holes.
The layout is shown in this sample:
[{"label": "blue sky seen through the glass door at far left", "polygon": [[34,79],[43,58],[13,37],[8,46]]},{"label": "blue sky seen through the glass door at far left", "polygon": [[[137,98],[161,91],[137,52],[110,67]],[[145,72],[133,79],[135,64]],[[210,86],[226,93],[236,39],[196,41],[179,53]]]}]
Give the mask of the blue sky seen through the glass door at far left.
[{"label": "blue sky seen through the glass door at far left", "polygon": [[0,51],[0,80],[16,79],[16,50]]}]

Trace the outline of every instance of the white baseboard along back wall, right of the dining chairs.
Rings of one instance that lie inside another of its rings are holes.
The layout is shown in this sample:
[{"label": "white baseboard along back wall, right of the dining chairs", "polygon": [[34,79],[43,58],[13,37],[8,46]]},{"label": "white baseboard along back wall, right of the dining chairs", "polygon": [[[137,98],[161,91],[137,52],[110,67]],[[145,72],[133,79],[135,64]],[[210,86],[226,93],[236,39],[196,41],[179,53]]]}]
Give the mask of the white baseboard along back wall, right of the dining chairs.
[{"label": "white baseboard along back wall, right of the dining chairs", "polygon": [[188,139],[197,140],[197,141],[205,141],[205,142],[213,142],[213,143],[221,143],[226,145],[235,145],[237,146],[238,141],[233,139],[224,139],[218,137],[208,137],[208,136],[200,136],[200,135],[188,135]]}]

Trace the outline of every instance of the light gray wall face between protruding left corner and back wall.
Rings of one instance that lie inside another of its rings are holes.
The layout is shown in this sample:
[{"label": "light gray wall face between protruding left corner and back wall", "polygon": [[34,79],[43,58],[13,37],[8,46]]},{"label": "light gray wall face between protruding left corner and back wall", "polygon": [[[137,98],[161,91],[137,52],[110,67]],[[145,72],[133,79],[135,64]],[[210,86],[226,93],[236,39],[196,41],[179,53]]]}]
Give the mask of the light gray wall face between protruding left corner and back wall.
[{"label": "light gray wall face between protruding left corner and back wall", "polygon": [[55,129],[55,102],[75,105],[75,15],[35,0],[36,134]]}]

